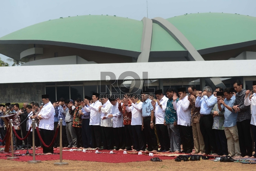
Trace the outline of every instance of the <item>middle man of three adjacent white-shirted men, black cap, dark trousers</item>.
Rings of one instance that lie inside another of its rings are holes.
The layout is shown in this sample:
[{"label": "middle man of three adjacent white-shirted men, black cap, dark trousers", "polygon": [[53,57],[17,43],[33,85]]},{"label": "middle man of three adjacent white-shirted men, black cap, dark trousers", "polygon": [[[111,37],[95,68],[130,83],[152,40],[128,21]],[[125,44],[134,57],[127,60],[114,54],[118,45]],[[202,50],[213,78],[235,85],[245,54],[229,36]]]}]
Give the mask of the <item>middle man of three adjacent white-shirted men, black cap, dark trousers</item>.
[{"label": "middle man of three adjacent white-shirted men, black cap, dark trousers", "polygon": [[103,105],[99,107],[101,112],[101,133],[102,133],[102,142],[103,149],[113,150],[114,149],[114,137],[113,137],[113,118],[104,119],[112,108],[112,104],[106,95],[103,95],[101,98]]}]

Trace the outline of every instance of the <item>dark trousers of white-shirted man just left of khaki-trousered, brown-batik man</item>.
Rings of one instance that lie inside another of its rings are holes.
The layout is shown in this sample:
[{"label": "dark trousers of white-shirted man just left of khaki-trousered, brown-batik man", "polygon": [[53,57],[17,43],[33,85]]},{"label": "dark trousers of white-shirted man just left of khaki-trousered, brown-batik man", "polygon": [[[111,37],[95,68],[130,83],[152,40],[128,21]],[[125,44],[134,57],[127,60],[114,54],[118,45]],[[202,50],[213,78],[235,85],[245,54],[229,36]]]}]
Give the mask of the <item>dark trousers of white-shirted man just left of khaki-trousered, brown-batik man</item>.
[{"label": "dark trousers of white-shirted man just left of khaki-trousered, brown-batik man", "polygon": [[183,142],[183,152],[192,153],[193,150],[193,133],[192,126],[178,125],[180,139]]}]

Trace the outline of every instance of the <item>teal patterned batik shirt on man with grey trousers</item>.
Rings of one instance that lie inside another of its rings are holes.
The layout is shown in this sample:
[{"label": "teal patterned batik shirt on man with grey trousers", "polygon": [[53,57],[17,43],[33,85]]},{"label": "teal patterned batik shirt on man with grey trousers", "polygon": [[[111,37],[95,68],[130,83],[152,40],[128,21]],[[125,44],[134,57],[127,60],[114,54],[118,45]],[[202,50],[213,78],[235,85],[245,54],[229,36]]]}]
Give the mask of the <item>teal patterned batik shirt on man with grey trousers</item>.
[{"label": "teal patterned batik shirt on man with grey trousers", "polygon": [[[165,109],[165,116],[164,120],[166,124],[173,124],[174,122],[177,122],[177,112],[174,110],[173,104],[172,104],[173,98],[171,97],[167,101],[166,109]],[[176,102],[178,103],[179,98],[177,98]]]}]

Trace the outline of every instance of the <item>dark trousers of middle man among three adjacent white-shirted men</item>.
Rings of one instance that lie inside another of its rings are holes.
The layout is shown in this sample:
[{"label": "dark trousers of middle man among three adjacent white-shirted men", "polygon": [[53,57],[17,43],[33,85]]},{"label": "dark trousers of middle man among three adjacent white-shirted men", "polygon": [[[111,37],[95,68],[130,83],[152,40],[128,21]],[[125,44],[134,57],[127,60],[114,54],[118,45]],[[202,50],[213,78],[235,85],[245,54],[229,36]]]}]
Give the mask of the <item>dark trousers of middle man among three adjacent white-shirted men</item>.
[{"label": "dark trousers of middle man among three adjacent white-shirted men", "polygon": [[113,127],[101,126],[103,149],[114,149]]}]

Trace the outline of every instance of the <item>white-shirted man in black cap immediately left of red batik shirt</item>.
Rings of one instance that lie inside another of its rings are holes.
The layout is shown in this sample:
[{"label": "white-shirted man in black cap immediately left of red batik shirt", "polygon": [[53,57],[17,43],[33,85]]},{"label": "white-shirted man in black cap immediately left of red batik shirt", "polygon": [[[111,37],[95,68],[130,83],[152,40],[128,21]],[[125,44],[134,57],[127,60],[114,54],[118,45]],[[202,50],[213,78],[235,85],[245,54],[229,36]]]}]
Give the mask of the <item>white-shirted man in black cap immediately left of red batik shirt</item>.
[{"label": "white-shirted man in black cap immediately left of red batik shirt", "polygon": [[109,97],[109,101],[112,104],[112,108],[109,114],[106,116],[106,119],[113,118],[114,143],[116,145],[116,149],[114,150],[125,150],[125,129],[123,114],[119,111],[118,101],[115,98]]}]

